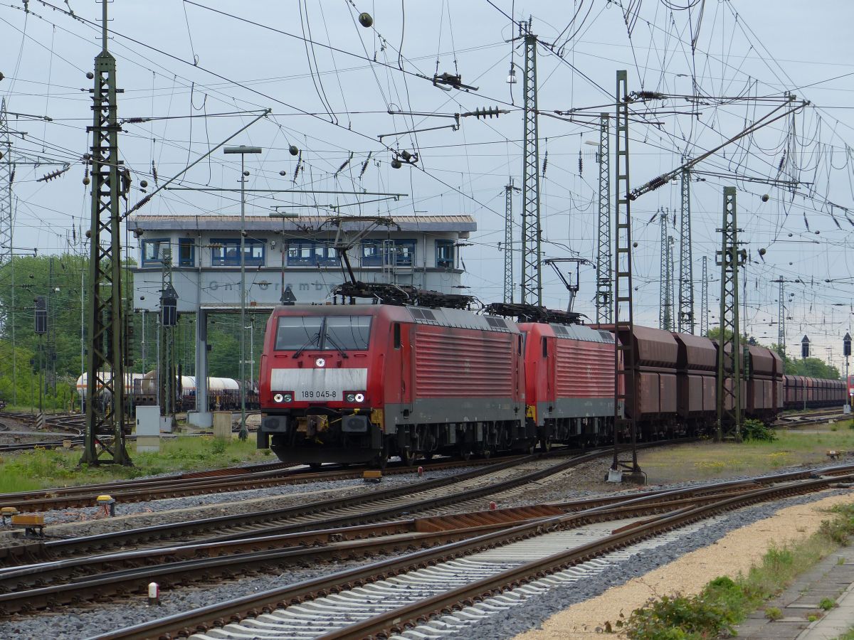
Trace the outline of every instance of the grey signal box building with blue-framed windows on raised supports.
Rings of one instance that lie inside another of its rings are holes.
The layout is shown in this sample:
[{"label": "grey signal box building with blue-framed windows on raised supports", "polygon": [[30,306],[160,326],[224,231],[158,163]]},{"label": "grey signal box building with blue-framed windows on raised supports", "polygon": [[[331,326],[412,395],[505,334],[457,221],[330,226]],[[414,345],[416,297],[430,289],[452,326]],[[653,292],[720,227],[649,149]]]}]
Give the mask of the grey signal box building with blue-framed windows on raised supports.
[{"label": "grey signal box building with blue-framed windows on raised supports", "polygon": [[[246,311],[266,316],[282,302],[330,303],[332,289],[345,278],[336,240],[348,247],[354,276],[361,282],[465,293],[459,249],[477,229],[474,218],[423,215],[390,221],[393,224],[325,216],[246,216]],[[240,216],[137,214],[129,218],[128,229],[138,242],[134,310],[160,311],[164,258],[169,256],[178,312],[198,314],[196,372],[206,371],[208,313],[239,311],[241,306]],[[196,409],[206,413],[204,407]],[[194,422],[208,426],[209,415],[195,416]]]}]

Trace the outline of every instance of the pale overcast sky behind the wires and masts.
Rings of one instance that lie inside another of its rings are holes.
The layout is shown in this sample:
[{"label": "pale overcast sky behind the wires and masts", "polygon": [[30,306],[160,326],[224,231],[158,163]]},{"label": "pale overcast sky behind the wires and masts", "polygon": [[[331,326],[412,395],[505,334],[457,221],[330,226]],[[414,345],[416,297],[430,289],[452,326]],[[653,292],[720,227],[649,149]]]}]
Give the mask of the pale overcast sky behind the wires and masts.
[{"label": "pale overcast sky behind the wires and masts", "polygon": [[[58,253],[69,245],[80,250],[71,229],[79,231],[81,222],[84,229],[88,225],[90,203],[79,159],[91,144],[86,133],[91,81],[85,73],[100,50],[101,5],[93,0],[31,0],[28,7],[26,13],[20,0],[0,4],[0,73],[5,76],[0,95],[9,111],[52,119],[10,117],[15,131],[27,133],[24,140],[15,138],[18,151],[73,166],[48,183],[35,182],[50,170],[46,167],[22,166],[16,172],[15,246],[38,247],[40,253]],[[82,20],[67,15],[69,8]],[[722,187],[733,185],[739,189],[741,239],[752,259],[746,270],[748,332],[765,343],[776,341],[778,289],[769,281],[800,278],[804,284],[787,284],[794,294],[787,311],[793,318],[787,323],[789,353],[797,353],[796,343],[808,334],[814,355],[826,358],[824,349],[831,346],[832,360],[841,364],[841,336],[850,329],[854,311],[854,253],[848,251],[854,213],[846,218],[839,208],[854,210],[854,155],[848,146],[854,140],[850,2],[827,0],[807,8],[771,0],[623,0],[622,6],[605,0],[402,5],[116,0],[109,11],[114,31],[109,47],[117,59],[118,84],[125,90],[119,98],[120,118],[155,117],[124,125],[126,133],[120,136],[120,153],[134,175],[131,204],[143,195],[140,180],[154,182],[152,162],[161,181],[171,177],[249,123],[254,117],[249,112],[272,108],[270,117],[232,141],[265,149],[249,160],[250,187],[408,194],[401,201],[350,207],[348,212],[471,214],[478,230],[471,237],[474,246],[462,253],[465,283],[487,302],[502,294],[503,188],[508,177],[519,184],[522,170],[524,59],[518,41],[507,42],[518,36],[509,16],[532,16],[533,32],[554,45],[538,49],[545,257],[594,259],[598,167],[596,147],[587,142],[595,143],[598,132],[586,123],[596,122],[601,111],[613,112],[617,69],[628,70],[630,90],[680,96],[633,106],[633,187],[679,166],[681,154],[695,157],[735,136],[780,107],[791,91],[810,106],[697,167],[706,173],[696,174],[701,181],[692,184],[695,312],[699,317],[705,255],[711,323],[717,322],[716,230]],[[360,11],[371,13],[371,28],[359,25]],[[514,85],[506,82],[512,63],[518,65],[519,83]],[[437,69],[461,74],[477,90],[436,88],[430,79]],[[705,100],[681,97],[695,94]],[[453,123],[436,114],[493,106],[511,113],[498,119],[464,118],[459,131],[377,139]],[[433,115],[389,115],[389,109]],[[570,109],[579,110],[574,122],[546,115]],[[215,115],[222,113],[227,115]],[[291,144],[301,148],[304,163],[295,183]],[[389,148],[417,152],[418,165],[392,169]],[[338,172],[351,154],[348,166]],[[237,177],[233,156],[217,152],[194,167],[184,184],[231,188]],[[797,181],[798,187],[740,177]],[[337,202],[352,201],[341,196]],[[265,195],[250,198],[249,212],[265,215],[277,204],[335,202],[320,195]],[[514,207],[518,222],[518,198]],[[658,218],[650,220],[660,207],[670,211],[672,223],[679,207],[678,183],[641,196],[632,208],[638,242],[635,318],[651,326],[658,323],[660,227]],[[143,209],[237,211],[236,195],[193,192],[158,195]],[[517,224],[517,238],[518,233]],[[672,224],[670,234],[676,235]],[[79,240],[77,231],[74,236]],[[518,243],[513,248],[518,278]],[[764,260],[759,248],[767,250]],[[678,265],[678,243],[675,253]],[[546,304],[564,307],[567,295],[558,278],[547,271],[544,282]],[[582,269],[581,284],[576,311],[594,316],[592,269]]]}]

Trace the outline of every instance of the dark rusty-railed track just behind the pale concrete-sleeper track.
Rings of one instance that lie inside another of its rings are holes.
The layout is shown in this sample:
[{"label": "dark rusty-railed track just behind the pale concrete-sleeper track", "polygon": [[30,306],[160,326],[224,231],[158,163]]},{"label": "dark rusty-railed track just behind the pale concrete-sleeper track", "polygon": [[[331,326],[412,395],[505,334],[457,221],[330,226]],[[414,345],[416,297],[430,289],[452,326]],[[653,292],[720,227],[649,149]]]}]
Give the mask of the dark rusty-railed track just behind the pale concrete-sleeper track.
[{"label": "dark rusty-railed track just behind the pale concrete-sleeper track", "polygon": [[[722,492],[733,495],[756,487],[755,483],[748,481],[711,489],[699,487],[678,494],[646,492],[634,497],[635,501],[640,500],[637,506],[618,509],[616,517],[624,517],[631,509],[636,509],[638,515],[646,515],[656,510],[708,503],[719,499]],[[594,498],[563,504],[431,516],[18,567],[0,571],[0,612],[31,612],[83,599],[97,600],[117,593],[144,591],[152,580],[162,587],[173,588],[243,576],[258,570],[316,566],[319,562],[342,558],[352,560],[377,554],[399,554],[596,507],[603,509],[579,522],[610,521],[615,517],[613,509],[617,508],[607,507],[624,500],[625,497]]]}]

